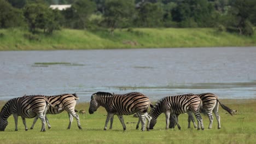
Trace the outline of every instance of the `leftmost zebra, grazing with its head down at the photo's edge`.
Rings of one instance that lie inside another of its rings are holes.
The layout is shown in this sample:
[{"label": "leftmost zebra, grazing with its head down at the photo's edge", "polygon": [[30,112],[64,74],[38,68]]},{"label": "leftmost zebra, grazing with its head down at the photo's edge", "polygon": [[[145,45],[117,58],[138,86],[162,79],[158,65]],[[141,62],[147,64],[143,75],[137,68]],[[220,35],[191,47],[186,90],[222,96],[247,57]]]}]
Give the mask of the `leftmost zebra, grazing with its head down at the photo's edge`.
[{"label": "leftmost zebra, grazing with its head down at the photo's edge", "polygon": [[5,103],[0,112],[0,131],[4,131],[7,127],[7,119],[11,114],[15,121],[15,131],[18,131],[18,116],[21,116],[26,131],[26,118],[39,117],[42,121],[41,131],[45,131],[45,114],[49,105],[56,110],[61,110],[61,108],[51,104],[44,95],[10,99]]}]

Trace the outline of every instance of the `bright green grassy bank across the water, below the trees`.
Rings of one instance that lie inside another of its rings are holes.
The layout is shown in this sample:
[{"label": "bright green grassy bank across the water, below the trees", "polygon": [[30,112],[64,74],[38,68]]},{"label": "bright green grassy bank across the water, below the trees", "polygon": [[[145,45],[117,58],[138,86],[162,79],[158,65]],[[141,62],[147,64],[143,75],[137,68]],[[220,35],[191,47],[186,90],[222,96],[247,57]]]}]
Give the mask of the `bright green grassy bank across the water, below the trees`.
[{"label": "bright green grassy bank across the water, below the trees", "polygon": [[62,29],[53,35],[32,35],[25,29],[0,29],[0,50],[133,49],[150,47],[256,46],[246,37],[213,28],[133,28],[89,32]]}]

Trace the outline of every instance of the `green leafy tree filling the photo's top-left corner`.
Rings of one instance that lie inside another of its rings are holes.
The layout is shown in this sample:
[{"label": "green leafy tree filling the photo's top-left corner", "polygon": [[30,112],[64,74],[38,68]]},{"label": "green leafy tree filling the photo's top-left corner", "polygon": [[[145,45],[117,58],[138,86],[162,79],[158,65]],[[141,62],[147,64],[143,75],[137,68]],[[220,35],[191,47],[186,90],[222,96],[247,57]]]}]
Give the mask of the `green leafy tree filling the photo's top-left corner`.
[{"label": "green leafy tree filling the photo's top-left corner", "polygon": [[5,0],[0,0],[0,28],[21,26],[22,23],[21,11],[11,7]]}]

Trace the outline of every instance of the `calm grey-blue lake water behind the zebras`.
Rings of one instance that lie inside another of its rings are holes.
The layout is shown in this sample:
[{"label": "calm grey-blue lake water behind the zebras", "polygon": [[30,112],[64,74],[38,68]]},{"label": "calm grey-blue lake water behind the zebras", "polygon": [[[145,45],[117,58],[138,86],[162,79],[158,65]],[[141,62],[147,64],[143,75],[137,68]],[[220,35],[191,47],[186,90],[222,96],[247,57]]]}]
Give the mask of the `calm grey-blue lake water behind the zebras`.
[{"label": "calm grey-blue lake water behind the zebras", "polygon": [[256,98],[256,47],[135,50],[0,51],[0,100],[24,94],[212,92]]}]

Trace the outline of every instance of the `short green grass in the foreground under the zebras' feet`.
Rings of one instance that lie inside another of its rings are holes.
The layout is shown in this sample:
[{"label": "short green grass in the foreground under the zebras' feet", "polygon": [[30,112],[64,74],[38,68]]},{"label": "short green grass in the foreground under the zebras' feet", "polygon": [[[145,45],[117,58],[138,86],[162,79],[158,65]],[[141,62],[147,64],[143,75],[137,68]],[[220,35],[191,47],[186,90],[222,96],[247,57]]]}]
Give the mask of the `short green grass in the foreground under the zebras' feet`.
[{"label": "short green grass in the foreground under the zebras' feet", "polygon": [[[9,125],[0,132],[1,143],[255,143],[256,99],[221,99],[223,104],[238,110],[237,115],[226,114],[221,107],[222,128],[217,129],[214,117],[213,128],[207,129],[208,117],[203,116],[205,130],[187,129],[187,114],[179,116],[182,129],[165,130],[165,116],[162,114],[151,131],[135,130],[137,118],[124,116],[126,131],[123,131],[119,119],[115,116],[113,129],[103,131],[106,111],[100,107],[93,115],[80,115],[83,130],[77,128],[75,119],[70,130],[67,130],[68,115],[48,115],[51,129],[40,132],[41,123],[37,122],[33,130],[25,131],[19,117],[18,131],[14,131],[14,118],[9,117]],[[2,101],[1,107],[4,102]],[[79,103],[77,110],[88,112],[88,103]],[[28,128],[33,119],[27,119]],[[128,122],[128,123],[127,123]],[[108,125],[109,126],[109,125]]]}]

